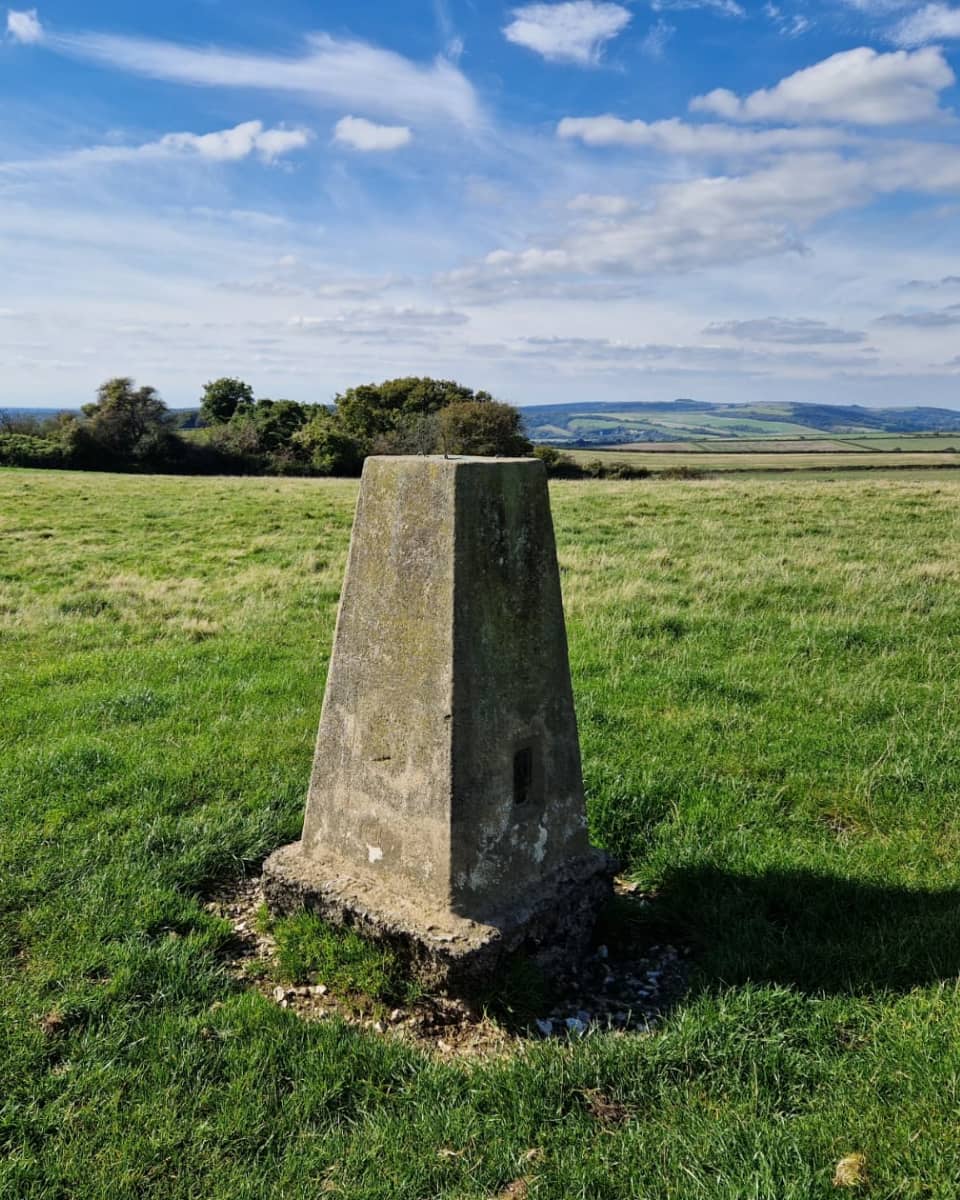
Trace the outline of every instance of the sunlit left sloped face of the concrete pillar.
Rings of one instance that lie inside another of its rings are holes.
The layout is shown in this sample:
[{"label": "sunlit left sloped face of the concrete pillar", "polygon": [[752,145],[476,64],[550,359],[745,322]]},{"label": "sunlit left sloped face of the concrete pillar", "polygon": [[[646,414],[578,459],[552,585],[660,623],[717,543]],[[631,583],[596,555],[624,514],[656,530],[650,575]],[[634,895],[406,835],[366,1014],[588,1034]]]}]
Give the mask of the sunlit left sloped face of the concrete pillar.
[{"label": "sunlit left sloped face of the concrete pillar", "polygon": [[307,856],[450,889],[454,475],[368,458],[304,822]]}]

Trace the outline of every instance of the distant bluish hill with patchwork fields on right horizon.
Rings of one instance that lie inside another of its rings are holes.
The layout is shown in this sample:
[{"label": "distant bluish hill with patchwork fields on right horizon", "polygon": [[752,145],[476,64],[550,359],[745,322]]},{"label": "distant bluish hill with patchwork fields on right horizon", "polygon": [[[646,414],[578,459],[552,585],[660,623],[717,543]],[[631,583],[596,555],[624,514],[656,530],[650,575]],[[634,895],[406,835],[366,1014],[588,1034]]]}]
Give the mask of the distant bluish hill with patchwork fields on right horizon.
[{"label": "distant bluish hill with patchwork fields on right horizon", "polygon": [[534,442],[569,446],[749,438],[806,440],[838,433],[960,432],[949,408],[863,408],[859,404],[664,403],[538,404],[521,409]]}]

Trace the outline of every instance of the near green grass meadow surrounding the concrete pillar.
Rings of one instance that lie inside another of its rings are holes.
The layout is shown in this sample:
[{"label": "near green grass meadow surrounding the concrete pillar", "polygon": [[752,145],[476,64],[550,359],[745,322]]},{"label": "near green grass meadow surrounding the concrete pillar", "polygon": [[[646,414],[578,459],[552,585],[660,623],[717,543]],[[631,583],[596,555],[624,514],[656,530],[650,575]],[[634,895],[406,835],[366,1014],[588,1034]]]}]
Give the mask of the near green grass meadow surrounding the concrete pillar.
[{"label": "near green grass meadow surrounding the concrete pillar", "polygon": [[552,494],[592,833],[695,977],[450,1064],[204,908],[299,833],[355,485],[0,472],[0,1196],[960,1195],[960,475]]}]

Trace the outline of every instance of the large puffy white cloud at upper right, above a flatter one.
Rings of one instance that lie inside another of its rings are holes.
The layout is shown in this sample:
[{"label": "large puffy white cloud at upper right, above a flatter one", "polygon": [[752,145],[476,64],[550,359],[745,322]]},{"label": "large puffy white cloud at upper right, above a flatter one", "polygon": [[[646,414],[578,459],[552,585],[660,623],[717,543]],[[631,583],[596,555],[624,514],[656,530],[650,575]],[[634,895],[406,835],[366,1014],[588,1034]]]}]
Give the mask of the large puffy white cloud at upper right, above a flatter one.
[{"label": "large puffy white cloud at upper right, above a flatter one", "polygon": [[938,115],[938,95],[955,82],[938,47],[880,54],[862,46],[787,76],[775,88],[744,98],[719,88],[695,97],[690,108],[732,121],[899,125]]}]

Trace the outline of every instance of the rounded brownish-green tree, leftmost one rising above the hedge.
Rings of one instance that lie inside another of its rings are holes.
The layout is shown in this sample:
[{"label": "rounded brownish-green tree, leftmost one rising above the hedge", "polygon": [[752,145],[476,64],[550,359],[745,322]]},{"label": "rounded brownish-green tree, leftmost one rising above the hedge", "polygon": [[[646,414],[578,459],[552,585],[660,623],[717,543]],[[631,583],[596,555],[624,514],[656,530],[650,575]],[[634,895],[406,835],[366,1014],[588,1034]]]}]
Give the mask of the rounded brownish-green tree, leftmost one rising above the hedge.
[{"label": "rounded brownish-green tree, leftmost one rising above the hedge", "polygon": [[157,462],[176,446],[174,419],[155,388],[134,388],[126,376],[108,379],[97,398],[83,406],[85,455],[118,462]]}]

